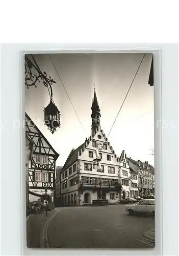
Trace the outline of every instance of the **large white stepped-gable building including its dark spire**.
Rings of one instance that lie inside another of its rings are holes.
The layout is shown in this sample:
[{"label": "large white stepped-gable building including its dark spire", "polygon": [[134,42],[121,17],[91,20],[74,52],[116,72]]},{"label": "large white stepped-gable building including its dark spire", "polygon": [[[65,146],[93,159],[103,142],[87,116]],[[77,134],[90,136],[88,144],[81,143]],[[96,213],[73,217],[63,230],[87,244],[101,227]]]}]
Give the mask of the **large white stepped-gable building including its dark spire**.
[{"label": "large white stepped-gable building including its dark spire", "polygon": [[[123,184],[121,196],[129,195],[129,165],[123,151],[118,158],[100,128],[100,110],[94,91],[92,103],[91,136],[76,150],[70,152],[61,169],[62,205],[82,205],[94,199],[118,202],[120,193],[117,185]],[[100,159],[97,165],[94,160]]]}]

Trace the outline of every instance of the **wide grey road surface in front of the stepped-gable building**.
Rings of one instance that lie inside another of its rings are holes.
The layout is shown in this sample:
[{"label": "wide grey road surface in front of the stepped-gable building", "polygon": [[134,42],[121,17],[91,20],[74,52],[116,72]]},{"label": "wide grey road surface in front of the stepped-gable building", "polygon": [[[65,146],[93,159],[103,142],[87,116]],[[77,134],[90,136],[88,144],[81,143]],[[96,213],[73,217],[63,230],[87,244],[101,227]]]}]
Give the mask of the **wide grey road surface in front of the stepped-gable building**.
[{"label": "wide grey road surface in front of the stepped-gable building", "polygon": [[49,223],[48,245],[50,248],[151,249],[155,248],[155,241],[149,239],[149,236],[154,238],[154,228],[153,217],[129,216],[125,205],[61,207]]}]

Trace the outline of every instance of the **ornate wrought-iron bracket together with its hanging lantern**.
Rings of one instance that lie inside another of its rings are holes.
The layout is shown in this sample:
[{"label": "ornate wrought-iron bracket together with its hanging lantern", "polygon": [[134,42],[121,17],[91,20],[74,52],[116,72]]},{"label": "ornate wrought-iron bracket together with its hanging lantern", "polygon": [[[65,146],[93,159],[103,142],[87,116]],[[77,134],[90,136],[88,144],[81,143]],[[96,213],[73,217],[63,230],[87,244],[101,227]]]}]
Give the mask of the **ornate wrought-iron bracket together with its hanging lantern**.
[{"label": "ornate wrought-iron bracket together with its hanging lantern", "polygon": [[[52,85],[56,83],[52,79],[52,77],[47,77],[46,72],[40,70],[33,54],[30,55],[31,59],[25,55],[25,86],[29,89],[29,87],[35,86],[37,87],[37,82],[40,83],[40,80],[43,81],[43,85],[47,87],[48,93],[50,96],[50,102],[44,109],[44,123],[47,125],[48,130],[54,134],[57,127],[60,127],[60,111],[53,101],[53,90]],[[32,71],[36,71],[36,74]]]}]

